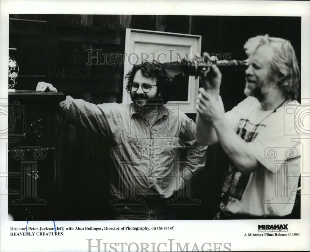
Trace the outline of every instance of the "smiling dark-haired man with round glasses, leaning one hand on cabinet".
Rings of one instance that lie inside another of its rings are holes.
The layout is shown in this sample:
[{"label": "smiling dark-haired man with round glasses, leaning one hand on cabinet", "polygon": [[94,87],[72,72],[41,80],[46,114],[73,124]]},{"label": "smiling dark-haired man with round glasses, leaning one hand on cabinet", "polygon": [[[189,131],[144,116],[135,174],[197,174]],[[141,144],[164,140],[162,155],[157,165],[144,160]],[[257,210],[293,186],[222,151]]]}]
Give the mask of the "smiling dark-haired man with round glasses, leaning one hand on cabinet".
[{"label": "smiling dark-haired man with round glasses, leaning one hand on cabinet", "polygon": [[[60,103],[69,122],[110,139],[110,205],[114,220],[175,219],[180,195],[205,164],[206,146],[195,140],[195,124],[178,106],[166,104],[170,79],[157,61],[134,65],[126,75],[132,104]],[[39,82],[36,91],[57,92]],[[187,202],[188,203],[188,202]]]}]

